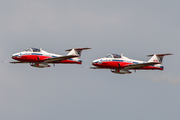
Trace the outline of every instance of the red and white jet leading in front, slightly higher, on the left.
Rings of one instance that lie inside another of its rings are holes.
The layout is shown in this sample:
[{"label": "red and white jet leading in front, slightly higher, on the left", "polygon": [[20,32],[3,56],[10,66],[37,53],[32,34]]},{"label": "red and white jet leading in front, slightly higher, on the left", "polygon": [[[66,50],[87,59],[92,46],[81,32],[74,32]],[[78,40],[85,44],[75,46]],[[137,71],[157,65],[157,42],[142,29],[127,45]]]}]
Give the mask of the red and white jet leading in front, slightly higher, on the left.
[{"label": "red and white jet leading in front, slightly higher, on the left", "polygon": [[38,48],[27,48],[25,51],[13,54],[11,57],[15,62],[10,63],[30,63],[32,67],[44,68],[50,67],[49,63],[70,63],[70,64],[81,64],[82,60],[81,52],[82,50],[87,50],[91,48],[74,48],[68,49],[70,51],[67,55],[58,55],[53,53],[48,53],[44,50]]}]

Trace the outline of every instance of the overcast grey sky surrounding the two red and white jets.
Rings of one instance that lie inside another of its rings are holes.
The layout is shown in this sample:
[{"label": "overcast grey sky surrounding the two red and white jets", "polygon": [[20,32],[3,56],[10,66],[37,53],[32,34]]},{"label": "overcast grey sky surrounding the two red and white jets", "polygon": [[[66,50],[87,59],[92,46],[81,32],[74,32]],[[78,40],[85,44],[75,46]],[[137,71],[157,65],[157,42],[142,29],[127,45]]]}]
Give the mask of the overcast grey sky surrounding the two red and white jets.
[{"label": "overcast grey sky surrounding the two red and white jets", "polygon": [[[0,58],[27,47],[66,55],[83,51],[82,65],[38,69],[0,63],[1,120],[179,120],[180,1],[1,0]],[[91,70],[108,53],[164,58],[164,71],[129,75]]]}]

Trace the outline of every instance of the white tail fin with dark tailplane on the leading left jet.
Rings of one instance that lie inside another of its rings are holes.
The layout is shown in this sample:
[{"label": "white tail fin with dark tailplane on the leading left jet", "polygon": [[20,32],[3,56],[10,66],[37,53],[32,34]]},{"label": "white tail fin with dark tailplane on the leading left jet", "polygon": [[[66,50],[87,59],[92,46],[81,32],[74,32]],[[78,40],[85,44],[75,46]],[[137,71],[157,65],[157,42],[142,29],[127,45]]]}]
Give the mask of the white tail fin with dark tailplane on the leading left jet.
[{"label": "white tail fin with dark tailplane on the leading left jet", "polygon": [[82,50],[87,50],[87,49],[91,49],[91,48],[73,48],[73,49],[68,49],[66,51],[70,51],[67,55],[77,55],[79,56],[78,58],[80,58]]}]

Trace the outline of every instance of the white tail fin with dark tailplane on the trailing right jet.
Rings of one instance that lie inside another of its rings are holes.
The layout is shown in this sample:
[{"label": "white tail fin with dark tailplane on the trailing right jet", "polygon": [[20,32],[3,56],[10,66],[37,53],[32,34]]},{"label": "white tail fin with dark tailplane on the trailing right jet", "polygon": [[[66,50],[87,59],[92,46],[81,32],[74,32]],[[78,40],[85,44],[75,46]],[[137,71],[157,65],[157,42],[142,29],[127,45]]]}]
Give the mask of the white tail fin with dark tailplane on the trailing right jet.
[{"label": "white tail fin with dark tailplane on the trailing right jet", "polygon": [[152,56],[151,59],[148,62],[159,62],[162,63],[163,57],[165,55],[173,55],[171,53],[168,54],[153,54],[153,55],[147,55],[148,57]]}]

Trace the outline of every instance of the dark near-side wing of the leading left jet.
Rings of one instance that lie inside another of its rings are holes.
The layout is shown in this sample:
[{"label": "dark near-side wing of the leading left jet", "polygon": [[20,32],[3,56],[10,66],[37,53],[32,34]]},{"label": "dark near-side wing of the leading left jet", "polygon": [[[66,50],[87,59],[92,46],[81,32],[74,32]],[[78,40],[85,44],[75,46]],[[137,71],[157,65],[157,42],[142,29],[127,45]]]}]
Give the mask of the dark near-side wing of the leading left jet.
[{"label": "dark near-side wing of the leading left jet", "polygon": [[76,56],[76,55],[68,55],[68,56],[48,58],[48,59],[44,60],[44,62],[49,63],[49,62],[55,62],[55,61],[60,61],[60,60],[67,60],[67,59],[71,59],[71,58],[74,58],[74,57],[78,57],[78,56]]}]

